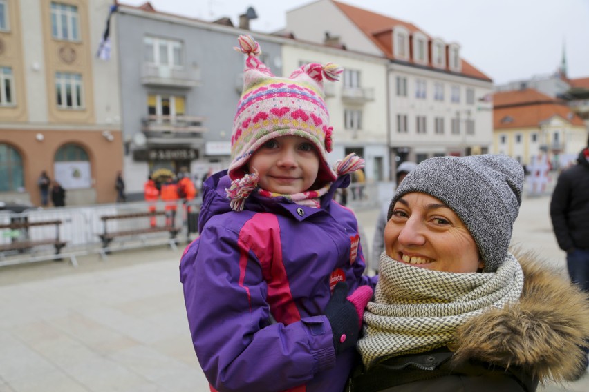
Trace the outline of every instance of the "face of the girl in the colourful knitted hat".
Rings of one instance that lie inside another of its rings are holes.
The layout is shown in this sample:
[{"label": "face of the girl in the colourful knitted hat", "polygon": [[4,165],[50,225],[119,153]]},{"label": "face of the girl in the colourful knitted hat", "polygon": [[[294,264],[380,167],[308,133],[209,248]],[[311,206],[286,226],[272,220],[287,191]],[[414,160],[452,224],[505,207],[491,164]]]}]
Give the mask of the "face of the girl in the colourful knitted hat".
[{"label": "face of the girl in the colourful knitted hat", "polygon": [[300,136],[266,141],[250,158],[250,173],[258,170],[258,186],[273,193],[292,195],[308,190],[317,179],[319,153]]}]

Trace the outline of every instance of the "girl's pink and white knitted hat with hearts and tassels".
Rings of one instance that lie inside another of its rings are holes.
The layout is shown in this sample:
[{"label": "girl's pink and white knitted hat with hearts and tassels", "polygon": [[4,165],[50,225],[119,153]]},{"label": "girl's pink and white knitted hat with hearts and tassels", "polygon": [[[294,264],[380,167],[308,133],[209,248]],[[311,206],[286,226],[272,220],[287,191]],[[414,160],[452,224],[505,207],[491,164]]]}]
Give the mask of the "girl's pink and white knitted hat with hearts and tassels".
[{"label": "girl's pink and white knitted hat with hearts and tassels", "polygon": [[231,136],[229,177],[240,179],[247,174],[247,161],[266,141],[285,135],[301,136],[315,145],[319,153],[317,186],[333,182],[337,173],[330,168],[331,151],[329,114],[324,101],[324,77],[339,80],[342,68],[332,63],[310,63],[292,72],[290,77],[276,77],[256,56],[259,43],[249,35],[239,36],[239,48],[247,55],[243,72],[243,92],[237,105]]}]

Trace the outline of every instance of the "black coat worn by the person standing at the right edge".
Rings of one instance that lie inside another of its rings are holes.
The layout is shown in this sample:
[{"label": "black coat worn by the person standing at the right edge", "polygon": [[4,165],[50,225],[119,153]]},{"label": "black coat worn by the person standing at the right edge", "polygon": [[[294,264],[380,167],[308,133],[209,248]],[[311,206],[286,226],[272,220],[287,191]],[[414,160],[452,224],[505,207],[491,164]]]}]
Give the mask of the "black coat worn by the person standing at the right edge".
[{"label": "black coat worn by the person standing at the right edge", "polygon": [[552,193],[550,218],[563,251],[589,249],[589,161],[584,149],[578,163],[564,170]]}]

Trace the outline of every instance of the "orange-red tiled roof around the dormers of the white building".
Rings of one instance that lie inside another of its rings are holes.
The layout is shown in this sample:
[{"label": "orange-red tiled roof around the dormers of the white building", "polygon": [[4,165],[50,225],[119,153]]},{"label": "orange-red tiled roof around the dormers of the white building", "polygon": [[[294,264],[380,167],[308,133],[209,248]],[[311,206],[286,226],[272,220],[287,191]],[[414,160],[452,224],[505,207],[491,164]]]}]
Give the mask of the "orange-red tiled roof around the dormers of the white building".
[{"label": "orange-red tiled roof around the dormers of the white building", "polygon": [[[371,39],[375,45],[384,52],[386,57],[390,59],[395,59],[393,55],[393,42],[392,42],[392,32],[395,26],[403,26],[407,30],[409,30],[410,34],[414,34],[415,32],[421,32],[423,35],[427,37],[427,39],[431,40],[431,36],[424,32],[413,23],[409,23],[406,21],[402,21],[400,19],[394,19],[391,17],[387,17],[382,14],[377,14],[372,11],[364,10],[362,8],[357,8],[355,6],[350,6],[345,3],[340,3],[339,1],[333,1],[335,6],[337,6],[346,16],[352,21],[364,34],[366,37]],[[410,61],[412,62],[412,61]],[[474,67],[471,63],[468,63],[464,59],[461,59],[462,63],[462,70],[461,74],[469,77],[476,77],[477,79],[484,79],[487,81],[492,81],[487,75],[483,72],[478,70]],[[436,69],[436,68],[433,68]]]}]

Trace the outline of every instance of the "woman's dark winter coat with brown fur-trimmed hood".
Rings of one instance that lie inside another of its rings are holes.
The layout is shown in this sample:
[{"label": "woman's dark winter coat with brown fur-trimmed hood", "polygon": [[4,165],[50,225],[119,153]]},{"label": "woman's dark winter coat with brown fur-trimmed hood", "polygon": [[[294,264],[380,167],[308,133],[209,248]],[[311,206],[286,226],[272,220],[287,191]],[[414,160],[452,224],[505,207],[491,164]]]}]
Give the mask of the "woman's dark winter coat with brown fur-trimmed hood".
[{"label": "woman's dark winter coat with brown fur-trimmed hood", "polygon": [[577,380],[589,336],[589,302],[561,271],[515,255],[523,268],[520,300],[472,317],[453,351],[392,357],[350,378],[352,392],[533,392],[539,382]]}]

